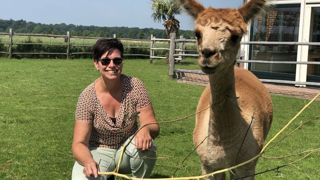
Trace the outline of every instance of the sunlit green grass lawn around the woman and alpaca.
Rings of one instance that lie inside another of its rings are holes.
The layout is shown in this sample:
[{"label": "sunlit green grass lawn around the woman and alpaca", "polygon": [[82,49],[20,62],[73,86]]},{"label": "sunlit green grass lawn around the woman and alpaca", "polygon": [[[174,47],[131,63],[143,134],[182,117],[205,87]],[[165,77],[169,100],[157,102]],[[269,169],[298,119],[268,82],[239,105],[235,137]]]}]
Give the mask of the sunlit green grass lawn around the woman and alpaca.
[{"label": "sunlit green grass lawn around the woman and alpaca", "polygon": [[[99,77],[92,60],[0,58],[0,179],[70,179],[74,158],[71,143],[78,95]],[[189,63],[176,68],[199,69]],[[151,97],[158,121],[185,117],[196,111],[204,87],[168,79],[168,66],[162,60],[125,60],[123,73],[140,78]],[[268,140],[273,137],[307,100],[272,96],[274,119]],[[43,109],[56,108],[56,109]],[[284,134],[300,123],[319,115],[320,102],[314,102]],[[195,117],[161,124],[155,143],[159,159],[152,177],[171,177],[175,167],[193,150]],[[278,157],[319,148],[319,119],[297,130],[269,150],[265,156]],[[283,135],[280,135],[283,136]],[[256,172],[276,168],[300,159],[260,158]],[[320,153],[256,177],[256,179],[319,179]],[[200,160],[193,153],[176,176],[199,176]],[[283,176],[283,177],[282,177]]]}]

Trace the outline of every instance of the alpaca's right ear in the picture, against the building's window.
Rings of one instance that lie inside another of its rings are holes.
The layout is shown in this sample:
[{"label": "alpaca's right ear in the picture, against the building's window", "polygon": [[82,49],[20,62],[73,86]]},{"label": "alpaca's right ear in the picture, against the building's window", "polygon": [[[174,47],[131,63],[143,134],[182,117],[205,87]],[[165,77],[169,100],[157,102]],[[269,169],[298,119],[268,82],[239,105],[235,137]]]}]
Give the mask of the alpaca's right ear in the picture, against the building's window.
[{"label": "alpaca's right ear in the picture, against the building's window", "polygon": [[251,18],[256,16],[263,10],[268,0],[250,0],[238,9],[242,15],[244,22],[248,22]]}]

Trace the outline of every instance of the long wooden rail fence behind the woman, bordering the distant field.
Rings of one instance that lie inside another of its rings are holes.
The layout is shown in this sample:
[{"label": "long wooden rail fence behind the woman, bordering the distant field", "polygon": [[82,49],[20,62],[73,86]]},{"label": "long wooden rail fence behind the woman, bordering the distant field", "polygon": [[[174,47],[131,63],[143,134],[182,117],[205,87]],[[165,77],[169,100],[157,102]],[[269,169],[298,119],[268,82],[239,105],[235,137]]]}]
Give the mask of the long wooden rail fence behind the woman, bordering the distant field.
[{"label": "long wooden rail fence behind the woman, bordering the distant field", "polygon": [[[71,36],[70,32],[67,32],[67,35],[49,35],[49,34],[23,34],[23,33],[13,33],[12,29],[9,30],[9,33],[1,33],[0,35],[8,35],[9,36],[9,42],[3,43],[0,42],[0,44],[9,45],[9,51],[8,52],[1,52],[1,54],[8,54],[9,58],[12,57],[14,54],[53,54],[53,55],[66,55],[66,59],[69,58],[69,56],[74,54],[92,54],[91,52],[76,52],[76,53],[70,53],[70,47],[92,47],[92,45],[72,45],[70,44],[71,38],[83,38],[83,39],[101,39],[105,37],[80,37],[80,36]],[[12,38],[15,36],[30,36],[30,37],[62,37],[65,38],[66,44],[45,44],[45,43],[13,43]],[[113,35],[114,38],[116,38],[116,35]],[[108,38],[107,38],[108,39]],[[130,39],[130,38],[118,38],[120,40],[130,40],[130,41],[139,41],[139,42],[150,42],[148,39]],[[66,53],[51,53],[51,52],[38,52],[38,53],[23,53],[23,52],[12,52],[12,46],[13,45],[52,45],[52,46],[66,46]],[[149,49],[149,47],[143,47],[143,46],[124,46],[124,48],[144,48]],[[148,56],[148,54],[124,54],[124,56]]]}]

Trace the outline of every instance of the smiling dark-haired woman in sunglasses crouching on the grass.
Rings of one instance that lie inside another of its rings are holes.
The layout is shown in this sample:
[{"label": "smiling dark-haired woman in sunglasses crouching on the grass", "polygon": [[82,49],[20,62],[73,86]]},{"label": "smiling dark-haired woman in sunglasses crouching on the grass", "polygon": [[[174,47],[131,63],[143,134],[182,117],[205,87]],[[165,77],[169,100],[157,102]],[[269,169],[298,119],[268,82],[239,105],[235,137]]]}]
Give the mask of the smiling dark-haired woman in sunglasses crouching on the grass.
[{"label": "smiling dark-haired woman in sunglasses crouching on the grass", "polygon": [[100,78],[84,89],[77,103],[72,179],[98,179],[97,171],[113,171],[130,139],[119,173],[148,178],[156,162],[153,139],[159,126],[143,127],[132,137],[138,129],[135,114],[140,126],[156,122],[148,92],[139,79],[121,74],[124,50],[119,40],[99,39],[92,52]]}]

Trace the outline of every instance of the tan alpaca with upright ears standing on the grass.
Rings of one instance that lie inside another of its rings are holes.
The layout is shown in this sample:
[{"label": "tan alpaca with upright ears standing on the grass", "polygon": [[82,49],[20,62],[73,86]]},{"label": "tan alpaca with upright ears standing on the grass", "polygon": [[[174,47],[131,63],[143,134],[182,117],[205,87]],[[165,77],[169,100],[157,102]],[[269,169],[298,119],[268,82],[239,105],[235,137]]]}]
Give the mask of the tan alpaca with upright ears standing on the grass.
[{"label": "tan alpaca with upright ears standing on the grass", "polygon": [[[266,1],[251,0],[236,10],[205,8],[196,0],[179,0],[196,22],[198,63],[209,75],[209,85],[200,97],[197,111],[210,108],[196,115],[193,132],[194,145],[200,144],[197,153],[203,174],[253,158],[268,135],[273,114],[268,89],[250,71],[234,66],[247,22]],[[234,169],[230,179],[255,174],[256,163],[254,160]],[[226,174],[211,179],[226,179]]]}]

